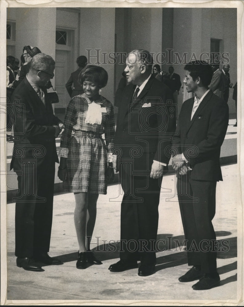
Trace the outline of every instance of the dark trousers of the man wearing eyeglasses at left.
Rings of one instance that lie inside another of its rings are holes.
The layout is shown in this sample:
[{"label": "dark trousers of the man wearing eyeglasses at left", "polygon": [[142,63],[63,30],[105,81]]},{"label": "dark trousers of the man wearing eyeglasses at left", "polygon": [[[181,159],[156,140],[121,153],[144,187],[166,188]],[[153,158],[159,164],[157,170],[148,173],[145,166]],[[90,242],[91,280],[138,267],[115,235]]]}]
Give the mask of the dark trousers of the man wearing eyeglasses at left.
[{"label": "dark trousers of the man wearing eyeglasses at left", "polygon": [[17,257],[31,258],[35,254],[49,251],[54,176],[54,161],[47,161],[45,165],[37,169],[35,189],[33,189],[33,182],[26,181],[28,177],[31,178],[30,174],[18,174],[21,199],[17,200],[15,205],[15,255]]}]

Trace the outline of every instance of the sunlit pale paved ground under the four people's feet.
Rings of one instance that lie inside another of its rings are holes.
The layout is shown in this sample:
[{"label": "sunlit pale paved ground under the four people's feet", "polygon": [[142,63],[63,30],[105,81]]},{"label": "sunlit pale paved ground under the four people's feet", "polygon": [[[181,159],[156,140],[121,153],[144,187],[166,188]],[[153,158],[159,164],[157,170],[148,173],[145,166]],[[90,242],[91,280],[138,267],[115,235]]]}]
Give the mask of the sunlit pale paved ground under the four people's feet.
[{"label": "sunlit pale paved ground under the four people's feet", "polygon": [[[239,230],[237,240],[237,217],[241,218],[241,203],[238,196],[239,174],[237,165],[222,166],[223,182],[217,184],[217,209],[213,223],[217,239],[227,251],[218,253],[217,265],[221,285],[206,291],[192,290],[194,282],[180,283],[179,276],[188,270],[186,252],[175,247],[175,240],[183,242],[183,228],[180,220],[175,176],[163,178],[159,204],[156,273],[139,277],[137,269],[121,273],[108,270],[110,264],[119,259],[120,201],[122,193],[118,184],[108,187],[108,194],[99,196],[97,221],[92,240],[93,250],[103,264],[92,265],[85,270],[76,269],[77,239],[73,223],[74,197],[72,193],[58,193],[54,196],[53,228],[50,256],[58,256],[61,266],[43,266],[44,272],[29,272],[16,266],[14,256],[14,204],[7,205],[7,301],[5,304],[26,304],[26,300],[38,300],[43,304],[58,303],[77,305],[162,305],[175,302],[177,305],[242,305],[241,258],[237,258],[237,242],[242,244]],[[239,221],[240,222],[240,221]],[[241,226],[241,224],[240,224]],[[227,241],[223,241],[227,240]],[[226,243],[227,242],[227,243]],[[108,251],[108,249],[115,251]],[[239,257],[241,257],[241,249]],[[238,259],[238,262],[237,262]],[[238,268],[238,270],[237,270]],[[237,275],[238,271],[238,275]],[[3,286],[3,285],[2,285]],[[41,301],[40,301],[41,300]],[[45,300],[45,301],[44,301]],[[48,300],[48,301],[46,301]],[[73,301],[75,300],[75,301]],[[150,303],[150,301],[153,301]],[[238,303],[239,301],[239,303]],[[28,302],[29,304],[31,301]],[[57,303],[57,302],[56,302]],[[32,303],[33,304],[33,303]]]}]

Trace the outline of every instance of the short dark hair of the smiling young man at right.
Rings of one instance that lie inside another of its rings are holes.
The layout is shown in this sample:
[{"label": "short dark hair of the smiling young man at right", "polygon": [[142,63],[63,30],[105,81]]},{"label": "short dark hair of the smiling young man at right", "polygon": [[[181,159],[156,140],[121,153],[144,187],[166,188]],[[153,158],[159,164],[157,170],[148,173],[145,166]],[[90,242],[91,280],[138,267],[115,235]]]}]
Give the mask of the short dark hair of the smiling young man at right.
[{"label": "short dark hair of the smiling young man at right", "polygon": [[192,61],[191,63],[186,64],[184,69],[190,72],[193,81],[199,77],[203,86],[207,87],[211,83],[213,71],[210,64],[207,62]]}]

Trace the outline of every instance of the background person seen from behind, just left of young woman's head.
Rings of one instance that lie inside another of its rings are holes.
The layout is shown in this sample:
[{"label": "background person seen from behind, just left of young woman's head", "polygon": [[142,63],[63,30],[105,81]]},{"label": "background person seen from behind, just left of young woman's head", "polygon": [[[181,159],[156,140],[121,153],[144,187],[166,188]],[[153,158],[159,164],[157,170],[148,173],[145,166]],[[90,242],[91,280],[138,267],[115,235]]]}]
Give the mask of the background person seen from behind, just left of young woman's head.
[{"label": "background person seen from behind, just left of young woman's head", "polygon": [[76,63],[79,66],[79,68],[75,72],[72,72],[68,82],[65,84],[65,87],[69,93],[70,98],[73,98],[76,95],[81,95],[84,93],[82,84],[79,84],[79,74],[87,64],[86,56],[78,56]]}]

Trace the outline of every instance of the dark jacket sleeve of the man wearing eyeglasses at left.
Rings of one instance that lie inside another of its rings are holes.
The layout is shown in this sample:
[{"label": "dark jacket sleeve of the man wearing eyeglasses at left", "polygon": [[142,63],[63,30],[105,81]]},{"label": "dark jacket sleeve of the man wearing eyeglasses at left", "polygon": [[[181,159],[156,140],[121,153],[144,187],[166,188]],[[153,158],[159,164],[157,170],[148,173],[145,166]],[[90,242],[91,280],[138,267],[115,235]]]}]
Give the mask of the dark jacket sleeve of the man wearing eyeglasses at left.
[{"label": "dark jacket sleeve of the man wearing eyeglasses at left", "polygon": [[[19,133],[23,132],[27,138],[40,136],[40,135],[54,137],[55,128],[53,126],[37,125],[30,104],[25,98],[22,97],[23,95],[20,95],[15,92],[11,97],[11,103],[13,104],[14,111],[17,115],[20,115],[20,116],[15,115],[14,131],[18,131]],[[14,101],[18,101],[19,103],[14,104]],[[20,112],[17,110],[19,106],[21,109]]]}]

